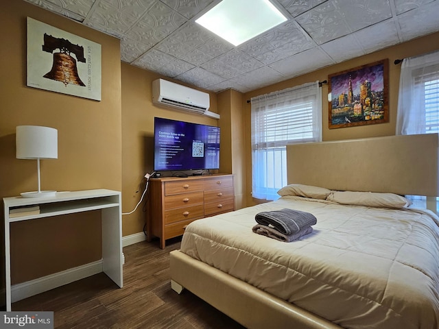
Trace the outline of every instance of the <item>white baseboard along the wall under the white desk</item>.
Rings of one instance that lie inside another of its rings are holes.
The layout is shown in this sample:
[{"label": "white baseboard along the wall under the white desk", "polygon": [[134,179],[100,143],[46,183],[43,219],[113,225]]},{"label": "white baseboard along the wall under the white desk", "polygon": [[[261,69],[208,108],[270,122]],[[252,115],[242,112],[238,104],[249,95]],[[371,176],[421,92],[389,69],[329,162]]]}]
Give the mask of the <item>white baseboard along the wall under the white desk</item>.
[{"label": "white baseboard along the wall under the white desk", "polygon": [[13,303],[18,302],[27,297],[38,295],[38,293],[61,287],[64,284],[69,284],[73,281],[87,278],[88,276],[94,276],[100,272],[102,272],[102,259],[74,267],[73,269],[50,274],[49,276],[43,276],[43,278],[14,284],[11,287],[11,300]]}]

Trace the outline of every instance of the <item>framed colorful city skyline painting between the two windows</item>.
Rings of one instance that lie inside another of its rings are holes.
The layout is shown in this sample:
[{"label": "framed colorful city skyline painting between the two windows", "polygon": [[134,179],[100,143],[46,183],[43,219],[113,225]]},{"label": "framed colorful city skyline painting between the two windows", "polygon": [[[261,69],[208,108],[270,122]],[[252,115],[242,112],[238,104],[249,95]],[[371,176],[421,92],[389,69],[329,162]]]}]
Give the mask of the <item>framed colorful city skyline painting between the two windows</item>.
[{"label": "framed colorful city skyline painting between the two windows", "polygon": [[329,129],[389,121],[388,59],[328,76]]}]

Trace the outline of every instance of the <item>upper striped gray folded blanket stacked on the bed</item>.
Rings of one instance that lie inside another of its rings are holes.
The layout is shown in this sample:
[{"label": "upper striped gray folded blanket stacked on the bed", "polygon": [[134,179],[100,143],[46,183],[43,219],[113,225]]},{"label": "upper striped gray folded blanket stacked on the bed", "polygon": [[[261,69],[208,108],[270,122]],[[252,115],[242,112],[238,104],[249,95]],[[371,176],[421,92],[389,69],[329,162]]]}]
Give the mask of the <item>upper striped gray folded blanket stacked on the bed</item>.
[{"label": "upper striped gray folded blanket stacked on the bed", "polygon": [[286,235],[297,233],[300,229],[317,223],[316,217],[309,212],[288,208],[259,212],[254,219],[259,224],[272,225],[276,230]]}]

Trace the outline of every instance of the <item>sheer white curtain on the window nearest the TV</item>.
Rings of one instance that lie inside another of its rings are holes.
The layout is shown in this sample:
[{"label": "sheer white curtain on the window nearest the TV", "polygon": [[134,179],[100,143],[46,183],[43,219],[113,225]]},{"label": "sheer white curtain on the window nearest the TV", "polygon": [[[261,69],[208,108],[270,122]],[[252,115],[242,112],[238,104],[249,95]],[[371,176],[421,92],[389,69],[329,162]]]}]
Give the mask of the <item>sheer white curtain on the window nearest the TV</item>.
[{"label": "sheer white curtain on the window nearest the TV", "polygon": [[322,141],[318,82],[253,97],[252,196],[274,200],[287,184],[286,145]]}]

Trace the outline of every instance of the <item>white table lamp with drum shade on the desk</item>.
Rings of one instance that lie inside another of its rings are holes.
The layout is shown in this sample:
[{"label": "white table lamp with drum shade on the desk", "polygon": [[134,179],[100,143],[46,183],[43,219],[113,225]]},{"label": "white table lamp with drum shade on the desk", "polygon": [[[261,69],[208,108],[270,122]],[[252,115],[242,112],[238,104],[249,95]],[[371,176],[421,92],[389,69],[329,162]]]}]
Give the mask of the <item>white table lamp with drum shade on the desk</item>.
[{"label": "white table lamp with drum shade on the desk", "polygon": [[16,158],[36,159],[38,191],[21,193],[22,197],[53,197],[56,191],[41,191],[40,159],[58,158],[58,130],[38,125],[16,127]]}]

